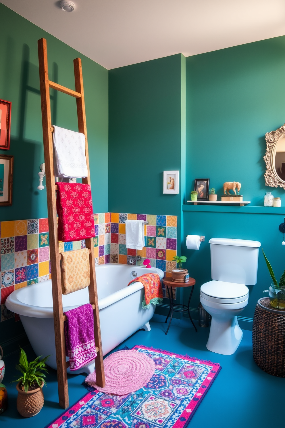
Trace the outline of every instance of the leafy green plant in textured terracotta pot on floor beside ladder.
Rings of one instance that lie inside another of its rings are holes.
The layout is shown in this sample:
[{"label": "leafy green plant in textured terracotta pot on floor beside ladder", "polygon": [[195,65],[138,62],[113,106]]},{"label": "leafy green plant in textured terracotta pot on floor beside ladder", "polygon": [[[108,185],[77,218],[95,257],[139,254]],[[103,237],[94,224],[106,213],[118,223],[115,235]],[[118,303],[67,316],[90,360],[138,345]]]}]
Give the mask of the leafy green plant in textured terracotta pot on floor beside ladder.
[{"label": "leafy green plant in textured terracotta pot on floor beside ladder", "polygon": [[16,364],[16,369],[22,373],[22,376],[14,380],[18,382],[17,410],[21,416],[35,416],[44,405],[42,387],[47,384],[44,380],[46,375],[43,372],[47,372],[45,361],[49,355],[41,361],[41,357],[37,357],[28,363],[26,352],[21,347],[20,349],[20,360],[19,364]]}]

